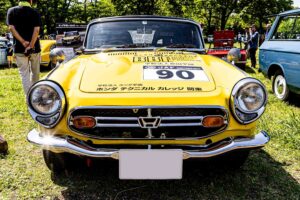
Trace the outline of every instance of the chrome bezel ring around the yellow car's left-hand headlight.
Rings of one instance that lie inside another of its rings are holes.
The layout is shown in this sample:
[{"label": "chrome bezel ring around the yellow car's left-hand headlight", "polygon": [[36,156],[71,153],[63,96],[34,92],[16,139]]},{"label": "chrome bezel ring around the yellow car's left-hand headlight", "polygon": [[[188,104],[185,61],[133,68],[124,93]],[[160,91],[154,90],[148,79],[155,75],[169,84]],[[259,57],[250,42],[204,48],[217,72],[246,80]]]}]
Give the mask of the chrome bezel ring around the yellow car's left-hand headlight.
[{"label": "chrome bezel ring around the yellow car's left-hand headlight", "polygon": [[[34,107],[31,105],[31,95],[32,92],[40,86],[47,86],[47,87],[51,87],[53,90],[56,91],[56,93],[58,94],[59,98],[60,98],[60,102],[61,102],[61,106],[58,110],[49,113],[49,114],[43,114],[37,110],[34,109]],[[45,128],[53,128],[54,126],[57,125],[57,123],[61,120],[63,113],[65,111],[66,108],[66,96],[64,94],[63,89],[54,81],[50,81],[50,80],[42,80],[39,81],[37,83],[35,83],[30,90],[27,93],[27,105],[28,105],[28,110],[29,113],[31,115],[31,117],[40,125],[42,125]],[[57,117],[57,114],[59,114],[59,116]],[[57,119],[54,121],[54,123],[52,124],[43,124],[40,122],[40,120],[38,120],[38,118],[43,118],[43,119],[47,119],[47,118],[52,118],[52,117],[56,117]]]}]

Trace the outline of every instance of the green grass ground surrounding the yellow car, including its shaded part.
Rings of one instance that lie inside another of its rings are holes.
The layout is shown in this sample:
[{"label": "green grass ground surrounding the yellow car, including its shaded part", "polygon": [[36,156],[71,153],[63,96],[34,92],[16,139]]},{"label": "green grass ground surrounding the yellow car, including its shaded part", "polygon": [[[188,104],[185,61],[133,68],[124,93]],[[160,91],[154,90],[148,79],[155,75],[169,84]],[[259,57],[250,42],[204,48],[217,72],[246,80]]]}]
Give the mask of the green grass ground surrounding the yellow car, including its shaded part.
[{"label": "green grass ground surrounding the yellow car, including its shaded part", "polygon": [[[262,80],[268,91],[270,81]],[[269,94],[259,121],[271,142],[252,152],[236,172],[203,162],[184,163],[180,181],[120,181],[116,162],[99,162],[86,172],[51,175],[41,150],[26,141],[36,125],[27,113],[17,69],[0,69],[0,134],[9,154],[0,156],[0,199],[300,199],[300,98],[280,102]]]}]

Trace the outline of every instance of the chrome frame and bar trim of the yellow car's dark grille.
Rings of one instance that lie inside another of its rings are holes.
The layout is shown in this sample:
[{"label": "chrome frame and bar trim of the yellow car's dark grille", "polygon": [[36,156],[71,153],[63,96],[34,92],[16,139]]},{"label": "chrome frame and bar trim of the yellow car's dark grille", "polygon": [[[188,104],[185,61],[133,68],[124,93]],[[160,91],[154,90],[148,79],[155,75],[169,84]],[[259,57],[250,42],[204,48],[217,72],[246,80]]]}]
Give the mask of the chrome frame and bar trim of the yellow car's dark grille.
[{"label": "chrome frame and bar trim of the yellow car's dark grille", "polygon": [[[67,124],[68,124],[68,129],[74,133],[76,133],[77,135],[79,136],[83,136],[83,137],[88,137],[88,138],[91,138],[91,139],[101,139],[101,140],[146,140],[148,138],[101,138],[101,137],[97,137],[97,136],[94,136],[94,135],[89,135],[89,134],[84,134],[82,132],[79,132],[77,130],[74,130],[70,125],[70,120],[71,120],[71,115],[74,111],[76,110],[80,110],[80,109],[149,109],[149,108],[164,108],[164,109],[168,109],[168,108],[172,108],[172,109],[176,109],[176,108],[195,108],[195,109],[205,109],[205,108],[210,108],[210,109],[221,109],[224,111],[225,113],[225,117],[224,117],[224,127],[221,127],[221,129],[215,131],[215,132],[212,132],[210,133],[209,135],[206,135],[206,136],[203,136],[203,137],[186,137],[186,138],[167,138],[168,140],[198,140],[198,139],[201,139],[201,138],[206,138],[206,137],[210,137],[210,136],[213,136],[213,135],[216,135],[218,133],[221,133],[223,131],[225,131],[227,128],[228,128],[228,124],[229,124],[229,112],[227,109],[225,109],[224,107],[222,106],[214,106],[214,105],[201,105],[201,106],[197,106],[197,105],[192,105],[192,106],[78,106],[78,107],[75,107],[73,109],[70,110],[69,112],[69,115],[68,115],[68,118],[67,118]],[[209,116],[215,116],[215,115],[209,115]],[[189,116],[189,117],[194,117],[194,116]],[[203,119],[202,116],[197,116],[197,117],[201,117]],[[95,117],[97,118],[97,117]],[[106,117],[104,117],[106,118]],[[108,117],[108,118],[114,118],[114,117]],[[133,120],[133,118],[135,117],[124,117],[124,118],[127,118],[129,120]],[[168,117],[161,117],[161,118],[168,118]],[[174,118],[174,117],[170,117],[170,118]],[[182,120],[182,119],[181,119]],[[97,122],[97,120],[96,120]],[[171,124],[171,123],[170,123]],[[195,126],[195,125],[198,125],[198,126],[202,126],[202,120],[199,122],[199,124],[189,124],[189,125],[186,125],[187,123],[184,123],[185,126],[187,127],[190,127],[190,126]],[[98,123],[97,123],[98,125]],[[97,126],[96,125],[96,126]],[[126,126],[124,126],[124,124],[108,124],[108,126],[105,126],[106,124],[101,124],[101,126],[97,126],[97,127],[117,127],[117,128],[122,128],[122,127],[131,127],[131,128],[138,128],[140,127],[140,125],[138,124],[138,126],[136,126],[136,124],[126,124]],[[174,126],[174,127],[180,127],[180,126],[184,126],[183,123],[172,123],[170,126]],[[170,127],[168,124],[166,123],[163,123],[161,122],[160,123],[160,127]],[[159,139],[159,138],[154,138],[154,139]]]}]

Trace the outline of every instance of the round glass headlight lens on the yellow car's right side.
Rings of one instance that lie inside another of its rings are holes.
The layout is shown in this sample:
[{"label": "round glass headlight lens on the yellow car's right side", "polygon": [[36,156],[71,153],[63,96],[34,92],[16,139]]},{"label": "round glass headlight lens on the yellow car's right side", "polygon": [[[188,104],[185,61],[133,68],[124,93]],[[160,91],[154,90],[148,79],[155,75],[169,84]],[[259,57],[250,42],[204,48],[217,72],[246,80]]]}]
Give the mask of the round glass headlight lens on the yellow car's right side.
[{"label": "round glass headlight lens on the yellow car's right side", "polygon": [[257,83],[249,83],[242,87],[236,95],[236,103],[241,111],[253,112],[265,103],[266,95],[263,87]]}]

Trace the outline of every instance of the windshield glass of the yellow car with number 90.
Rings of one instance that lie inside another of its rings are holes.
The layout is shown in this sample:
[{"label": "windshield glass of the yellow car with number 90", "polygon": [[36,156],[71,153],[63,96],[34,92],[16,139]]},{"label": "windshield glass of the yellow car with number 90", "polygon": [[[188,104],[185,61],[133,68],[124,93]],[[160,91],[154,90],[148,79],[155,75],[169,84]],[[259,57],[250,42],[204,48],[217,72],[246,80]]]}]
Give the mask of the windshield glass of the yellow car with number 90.
[{"label": "windshield glass of the yellow car with number 90", "polygon": [[86,49],[110,47],[200,48],[198,26],[158,20],[117,21],[92,24]]}]

